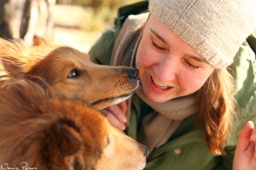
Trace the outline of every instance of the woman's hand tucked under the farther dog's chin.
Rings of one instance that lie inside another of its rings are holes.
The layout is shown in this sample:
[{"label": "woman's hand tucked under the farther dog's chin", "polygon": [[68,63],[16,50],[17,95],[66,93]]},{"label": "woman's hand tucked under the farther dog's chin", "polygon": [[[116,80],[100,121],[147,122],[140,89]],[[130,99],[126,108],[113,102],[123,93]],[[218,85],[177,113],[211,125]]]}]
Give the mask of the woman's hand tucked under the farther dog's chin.
[{"label": "woman's hand tucked under the farther dog's chin", "polygon": [[125,130],[127,122],[127,103],[126,101],[118,105],[110,105],[106,109],[101,110],[102,115],[106,116],[108,121],[119,130]]}]

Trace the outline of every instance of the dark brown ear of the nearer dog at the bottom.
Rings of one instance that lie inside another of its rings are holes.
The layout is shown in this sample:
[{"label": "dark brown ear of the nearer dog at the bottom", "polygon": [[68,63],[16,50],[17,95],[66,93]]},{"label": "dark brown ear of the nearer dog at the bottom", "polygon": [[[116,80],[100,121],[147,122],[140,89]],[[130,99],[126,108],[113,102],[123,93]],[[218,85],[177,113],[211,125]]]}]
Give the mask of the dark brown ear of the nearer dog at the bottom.
[{"label": "dark brown ear of the nearer dog at the bottom", "polygon": [[59,121],[46,135],[47,155],[53,169],[84,169],[83,139],[77,129]]}]

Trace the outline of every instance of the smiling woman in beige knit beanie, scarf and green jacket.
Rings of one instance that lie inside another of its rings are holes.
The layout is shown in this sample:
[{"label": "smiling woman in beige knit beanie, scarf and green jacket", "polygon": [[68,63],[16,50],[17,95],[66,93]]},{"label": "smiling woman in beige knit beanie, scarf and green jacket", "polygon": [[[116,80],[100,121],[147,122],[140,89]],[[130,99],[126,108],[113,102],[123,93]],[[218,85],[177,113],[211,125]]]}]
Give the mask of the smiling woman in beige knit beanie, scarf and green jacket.
[{"label": "smiling woman in beige knit beanie, scarf and green jacket", "polygon": [[[232,169],[237,132],[247,119],[256,122],[255,55],[246,42],[256,28],[255,14],[253,0],[144,1],[119,8],[114,29],[90,49],[96,63],[139,70],[137,93],[102,113],[148,147],[146,169]],[[234,94],[233,78],[242,84],[236,89],[252,96],[247,103],[242,92]],[[252,129],[242,131],[249,133],[239,143],[256,146],[248,141]],[[235,159],[233,169],[253,169],[247,156],[256,157],[253,150],[237,153],[244,159]]]}]

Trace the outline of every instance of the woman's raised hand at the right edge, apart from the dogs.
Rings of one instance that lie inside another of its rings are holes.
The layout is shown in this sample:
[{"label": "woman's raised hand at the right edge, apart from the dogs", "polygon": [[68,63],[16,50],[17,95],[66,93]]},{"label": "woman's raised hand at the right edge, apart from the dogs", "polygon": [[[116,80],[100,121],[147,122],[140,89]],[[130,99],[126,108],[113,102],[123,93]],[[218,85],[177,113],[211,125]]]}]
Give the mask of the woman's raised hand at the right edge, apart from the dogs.
[{"label": "woman's raised hand at the right edge, apart from the dogs", "polygon": [[233,161],[234,170],[256,170],[256,133],[253,122],[247,122],[239,135]]}]

